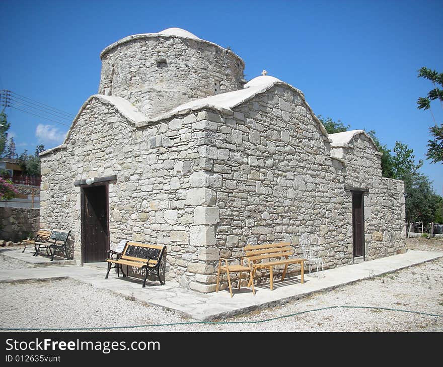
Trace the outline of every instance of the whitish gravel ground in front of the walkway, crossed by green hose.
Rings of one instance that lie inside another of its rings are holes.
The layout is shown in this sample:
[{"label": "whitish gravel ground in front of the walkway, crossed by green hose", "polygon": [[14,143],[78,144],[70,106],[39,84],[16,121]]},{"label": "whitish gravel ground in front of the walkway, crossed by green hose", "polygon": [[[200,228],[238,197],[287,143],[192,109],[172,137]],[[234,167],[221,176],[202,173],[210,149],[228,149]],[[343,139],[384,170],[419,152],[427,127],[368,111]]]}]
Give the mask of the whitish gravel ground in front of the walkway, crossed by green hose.
[{"label": "whitish gravel ground in front of the walkway, crossed by green hose", "polygon": [[[443,250],[443,240],[408,240],[408,248]],[[2,260],[2,266],[6,262]],[[109,325],[110,315],[116,326],[193,321],[173,311],[72,280],[0,283],[0,293],[0,328],[93,328],[103,331],[99,328]],[[313,311],[331,306],[414,312],[343,307]],[[256,322],[303,311],[312,312]],[[223,320],[235,322],[232,324],[196,323],[110,331],[443,331],[443,317],[415,311],[443,315],[443,259],[318,293],[284,306]]]}]

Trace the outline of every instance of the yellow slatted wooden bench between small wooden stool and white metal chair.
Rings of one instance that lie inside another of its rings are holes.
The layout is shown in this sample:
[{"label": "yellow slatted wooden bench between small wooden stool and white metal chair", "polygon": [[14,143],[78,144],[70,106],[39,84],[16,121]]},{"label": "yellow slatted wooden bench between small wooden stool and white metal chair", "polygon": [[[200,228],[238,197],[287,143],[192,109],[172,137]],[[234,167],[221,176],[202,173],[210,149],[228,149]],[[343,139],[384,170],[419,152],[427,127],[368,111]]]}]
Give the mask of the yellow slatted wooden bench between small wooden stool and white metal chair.
[{"label": "yellow slatted wooden bench between small wooden stool and white metal chair", "polygon": [[[284,265],[281,281],[283,282],[286,275],[287,265],[300,263],[302,266],[301,283],[304,283],[304,262],[305,258],[294,258],[294,250],[289,242],[272,243],[266,245],[248,245],[244,247],[246,257],[252,262],[253,274],[257,269],[269,269],[269,279],[271,291],[273,289],[273,267],[277,265]],[[249,285],[251,286],[251,280]]]}]

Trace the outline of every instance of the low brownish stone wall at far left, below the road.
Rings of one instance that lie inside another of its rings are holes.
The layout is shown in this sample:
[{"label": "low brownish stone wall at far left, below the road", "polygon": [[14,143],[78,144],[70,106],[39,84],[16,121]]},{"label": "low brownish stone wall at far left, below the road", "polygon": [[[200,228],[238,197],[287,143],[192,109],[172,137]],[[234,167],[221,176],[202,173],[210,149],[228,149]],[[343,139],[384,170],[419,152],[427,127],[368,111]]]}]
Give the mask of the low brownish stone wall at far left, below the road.
[{"label": "low brownish stone wall at far left, below the road", "polygon": [[0,239],[19,242],[32,237],[40,228],[40,210],[0,208]]}]

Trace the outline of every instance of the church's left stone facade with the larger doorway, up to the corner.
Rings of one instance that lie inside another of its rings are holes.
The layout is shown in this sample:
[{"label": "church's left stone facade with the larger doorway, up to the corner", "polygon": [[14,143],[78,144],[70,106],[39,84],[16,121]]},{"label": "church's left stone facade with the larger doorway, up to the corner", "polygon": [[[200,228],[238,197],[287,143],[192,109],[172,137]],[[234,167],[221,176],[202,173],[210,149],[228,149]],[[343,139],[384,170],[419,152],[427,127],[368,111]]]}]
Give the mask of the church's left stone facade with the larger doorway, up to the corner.
[{"label": "church's left stone facade with the larger doorway, up to the corner", "polygon": [[71,229],[73,256],[80,262],[81,188],[74,182],[116,174],[108,187],[111,246],[121,239],[166,244],[166,279],[200,290],[196,279],[213,271],[200,263],[211,253],[204,224],[212,212],[204,205],[214,197],[205,188],[211,177],[203,172],[211,140],[204,128],[212,115],[199,112],[136,128],[111,104],[93,99],[65,144],[41,156],[41,226]]}]

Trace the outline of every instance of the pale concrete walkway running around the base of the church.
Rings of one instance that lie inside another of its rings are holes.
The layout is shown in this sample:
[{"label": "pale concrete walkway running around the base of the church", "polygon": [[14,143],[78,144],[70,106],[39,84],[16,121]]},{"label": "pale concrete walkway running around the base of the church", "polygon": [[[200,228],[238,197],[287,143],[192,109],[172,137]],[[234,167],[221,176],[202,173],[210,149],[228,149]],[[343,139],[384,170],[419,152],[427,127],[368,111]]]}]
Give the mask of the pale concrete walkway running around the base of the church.
[{"label": "pale concrete walkway running around the base of the church", "polygon": [[[234,297],[229,291],[201,294],[182,289],[175,282],[167,282],[160,286],[159,282],[146,282],[146,288],[141,288],[141,281],[131,278],[117,278],[112,272],[109,279],[106,275],[106,264],[96,263],[85,266],[73,265],[72,262],[52,261],[42,256],[31,256],[31,252],[21,253],[21,249],[0,249],[2,261],[12,258],[15,261],[29,261],[28,267],[20,269],[0,269],[0,282],[43,281],[53,279],[75,279],[86,282],[99,289],[106,289],[124,297],[133,297],[147,304],[165,307],[196,320],[224,319],[227,316],[257,310],[260,308],[280,305],[316,292],[324,292],[333,288],[350,284],[363,279],[397,271],[426,261],[443,257],[443,252],[408,250],[404,254],[388,256],[377,260],[364,261],[359,264],[346,265],[323,272],[323,278],[305,274],[305,283],[300,283],[299,277],[287,278],[283,283],[274,282],[274,290],[269,289],[269,282],[256,287],[256,295],[250,288],[233,290]],[[30,258],[31,257],[31,258]],[[62,266],[69,265],[69,266]]]}]

